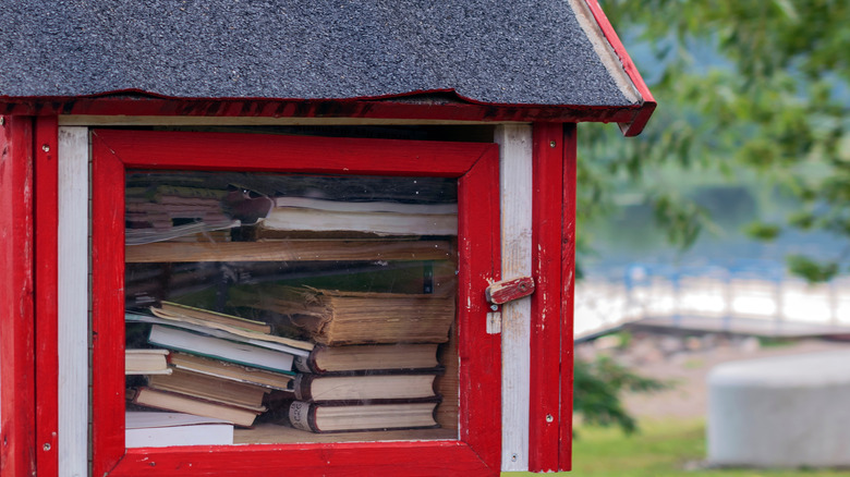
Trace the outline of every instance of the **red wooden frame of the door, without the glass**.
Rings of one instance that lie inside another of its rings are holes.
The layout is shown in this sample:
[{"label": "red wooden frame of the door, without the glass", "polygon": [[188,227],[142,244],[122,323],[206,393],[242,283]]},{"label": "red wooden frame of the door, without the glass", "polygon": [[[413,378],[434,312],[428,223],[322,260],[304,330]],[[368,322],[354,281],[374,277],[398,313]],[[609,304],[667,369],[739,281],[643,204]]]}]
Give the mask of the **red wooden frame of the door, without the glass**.
[{"label": "red wooden frame of the door, without the glass", "polygon": [[[183,144],[187,138],[192,147]],[[303,164],[316,155],[320,163]],[[484,299],[488,280],[498,279],[497,146],[98,130],[93,134],[93,161],[95,475],[138,475],[143,469],[151,475],[185,475],[190,469],[216,475],[498,475],[500,341],[498,335],[486,334]],[[460,441],[127,452],[123,442],[123,340],[116,339],[123,337],[123,174],[126,167],[158,168],[162,163],[177,169],[459,176],[459,276],[466,284],[460,286],[458,297]]]}]

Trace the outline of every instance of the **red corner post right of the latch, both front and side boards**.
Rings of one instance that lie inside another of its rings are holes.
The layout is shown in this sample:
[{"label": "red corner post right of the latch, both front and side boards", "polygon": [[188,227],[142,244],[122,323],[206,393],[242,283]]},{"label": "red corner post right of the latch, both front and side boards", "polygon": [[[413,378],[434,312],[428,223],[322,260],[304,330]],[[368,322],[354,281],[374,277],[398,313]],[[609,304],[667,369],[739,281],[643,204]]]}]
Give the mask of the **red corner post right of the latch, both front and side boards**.
[{"label": "red corner post right of the latch, both front and side boards", "polygon": [[532,137],[529,470],[569,470],[575,281],[575,124],[535,123]]}]

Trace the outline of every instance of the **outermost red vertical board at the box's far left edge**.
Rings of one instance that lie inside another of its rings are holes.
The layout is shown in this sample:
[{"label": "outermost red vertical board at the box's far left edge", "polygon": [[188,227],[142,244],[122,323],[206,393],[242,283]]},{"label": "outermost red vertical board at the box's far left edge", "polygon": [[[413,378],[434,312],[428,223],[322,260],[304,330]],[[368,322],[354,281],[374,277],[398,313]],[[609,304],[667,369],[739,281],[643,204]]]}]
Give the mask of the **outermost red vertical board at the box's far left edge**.
[{"label": "outermost red vertical board at the box's far left edge", "polygon": [[35,475],[33,122],[0,117],[0,475]]}]

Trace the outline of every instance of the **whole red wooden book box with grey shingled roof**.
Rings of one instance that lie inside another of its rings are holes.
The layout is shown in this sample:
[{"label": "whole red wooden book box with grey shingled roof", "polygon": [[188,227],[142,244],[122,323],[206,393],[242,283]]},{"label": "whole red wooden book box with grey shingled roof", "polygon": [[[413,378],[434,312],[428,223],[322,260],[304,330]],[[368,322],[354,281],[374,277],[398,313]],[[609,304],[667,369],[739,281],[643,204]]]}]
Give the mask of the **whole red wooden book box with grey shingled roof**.
[{"label": "whole red wooden book box with grey shingled roof", "polygon": [[570,468],[596,0],[4,3],[2,477]]}]

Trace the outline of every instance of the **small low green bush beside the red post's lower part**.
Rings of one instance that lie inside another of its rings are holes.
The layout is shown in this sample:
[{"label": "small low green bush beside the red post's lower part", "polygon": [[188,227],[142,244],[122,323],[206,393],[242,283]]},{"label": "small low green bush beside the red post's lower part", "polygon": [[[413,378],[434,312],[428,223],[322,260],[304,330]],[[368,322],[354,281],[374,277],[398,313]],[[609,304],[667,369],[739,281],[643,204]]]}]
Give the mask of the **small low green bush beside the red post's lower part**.
[{"label": "small low green bush beside the red post's lower part", "polygon": [[573,411],[581,416],[582,423],[616,426],[626,433],[635,432],[638,421],[623,407],[622,393],[659,391],[670,386],[641,376],[609,356],[595,360],[575,359],[573,379]]}]

